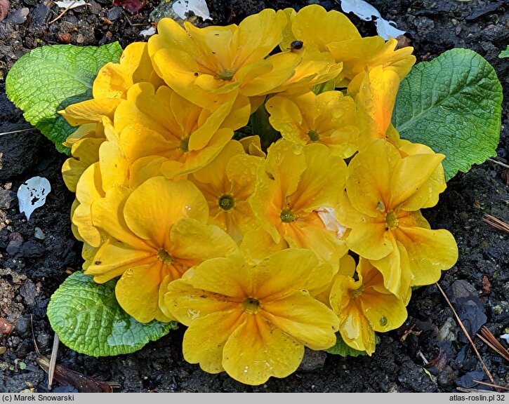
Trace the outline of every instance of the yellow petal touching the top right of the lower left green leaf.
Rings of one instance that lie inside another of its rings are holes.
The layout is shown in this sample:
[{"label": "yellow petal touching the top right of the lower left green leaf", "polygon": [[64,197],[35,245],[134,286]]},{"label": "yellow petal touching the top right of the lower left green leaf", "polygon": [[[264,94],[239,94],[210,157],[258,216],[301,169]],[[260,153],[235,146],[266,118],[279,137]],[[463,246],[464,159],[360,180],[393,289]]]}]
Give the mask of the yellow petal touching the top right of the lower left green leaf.
[{"label": "yellow petal touching the top right of the lower left green leaf", "polygon": [[115,286],[117,302],[140,323],[170,321],[159,309],[159,285],[167,274],[168,268],[159,260],[127,269]]}]

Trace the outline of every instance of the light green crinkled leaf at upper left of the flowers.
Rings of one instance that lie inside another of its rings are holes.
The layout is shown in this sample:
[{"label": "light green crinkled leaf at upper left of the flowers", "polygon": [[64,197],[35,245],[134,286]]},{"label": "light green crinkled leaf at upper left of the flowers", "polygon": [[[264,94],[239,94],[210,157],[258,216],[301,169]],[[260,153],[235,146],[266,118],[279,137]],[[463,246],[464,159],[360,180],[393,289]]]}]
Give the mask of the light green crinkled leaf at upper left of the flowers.
[{"label": "light green crinkled leaf at upper left of the flowers", "polygon": [[103,46],[48,45],[15,62],[6,77],[6,94],[25,119],[55,143],[59,152],[76,127],[57,114],[60,109],[92,97],[92,83],[107,62],[118,62],[118,42]]}]

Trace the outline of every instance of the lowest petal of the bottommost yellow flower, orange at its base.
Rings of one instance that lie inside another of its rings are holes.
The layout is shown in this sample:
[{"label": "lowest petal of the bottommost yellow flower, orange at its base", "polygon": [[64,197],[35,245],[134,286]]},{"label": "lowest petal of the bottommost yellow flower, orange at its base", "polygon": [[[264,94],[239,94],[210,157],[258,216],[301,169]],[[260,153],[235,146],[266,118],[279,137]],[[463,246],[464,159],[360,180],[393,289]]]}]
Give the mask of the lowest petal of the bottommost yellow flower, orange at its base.
[{"label": "lowest petal of the bottommost yellow flower, orange at its base", "polygon": [[[246,349],[249,346],[249,349]],[[235,380],[257,386],[295,372],[304,346],[260,316],[246,316],[223,349],[223,368]]]}]

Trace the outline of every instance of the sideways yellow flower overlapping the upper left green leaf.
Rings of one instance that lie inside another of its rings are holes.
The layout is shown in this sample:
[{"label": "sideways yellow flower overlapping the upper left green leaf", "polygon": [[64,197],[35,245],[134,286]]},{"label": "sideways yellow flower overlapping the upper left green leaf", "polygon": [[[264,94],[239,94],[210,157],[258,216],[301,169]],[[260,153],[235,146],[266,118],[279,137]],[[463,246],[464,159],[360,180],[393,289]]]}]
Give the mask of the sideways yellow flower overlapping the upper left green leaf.
[{"label": "sideways yellow flower overlapping the upper left green leaf", "polygon": [[69,105],[60,114],[72,126],[100,122],[113,113],[133,83],[148,81],[158,88],[164,82],[157,76],[148,55],[147,43],[130,43],[119,63],[109,62],[99,69],[93,81],[92,99]]}]

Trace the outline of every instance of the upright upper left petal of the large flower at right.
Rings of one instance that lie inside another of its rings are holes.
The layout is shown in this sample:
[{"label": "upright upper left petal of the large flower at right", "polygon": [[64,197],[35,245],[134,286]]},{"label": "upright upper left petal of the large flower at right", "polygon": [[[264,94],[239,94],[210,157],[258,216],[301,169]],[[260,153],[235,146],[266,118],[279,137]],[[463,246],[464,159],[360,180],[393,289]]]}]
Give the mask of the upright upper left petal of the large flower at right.
[{"label": "upright upper left petal of the large flower at right", "polygon": [[374,140],[348,164],[346,190],[352,206],[376,217],[390,206],[390,175],[399,152],[385,140]]}]

